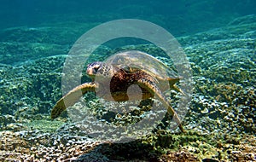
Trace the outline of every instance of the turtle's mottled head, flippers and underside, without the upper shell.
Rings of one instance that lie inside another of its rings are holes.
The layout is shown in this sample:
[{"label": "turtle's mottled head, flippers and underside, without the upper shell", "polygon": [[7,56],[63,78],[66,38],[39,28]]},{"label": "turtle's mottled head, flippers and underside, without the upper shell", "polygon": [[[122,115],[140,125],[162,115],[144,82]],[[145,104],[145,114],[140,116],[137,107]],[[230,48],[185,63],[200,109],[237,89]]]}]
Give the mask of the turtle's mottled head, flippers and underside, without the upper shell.
[{"label": "turtle's mottled head, flippers and underside, without the upper shell", "polygon": [[[181,120],[178,118],[177,113],[170,106],[166,100],[165,95],[162,91],[168,90],[179,90],[175,83],[180,78],[157,78],[152,77],[149,72],[134,67],[115,67],[105,62],[96,61],[90,63],[86,70],[88,76],[92,78],[92,82],[84,83],[73,90],[69,91],[67,95],[64,95],[59,101],[57,101],[55,107],[51,111],[51,118],[57,118],[67,107],[73,106],[74,103],[79,101],[79,98],[87,92],[96,92],[97,95],[108,101],[131,101],[131,100],[145,100],[151,97],[156,97],[163,105],[167,108],[167,112],[173,115],[174,121],[178,124],[180,130],[183,130]],[[169,82],[170,87],[158,87],[156,82],[163,81]],[[110,86],[109,86],[110,83]],[[136,92],[127,95],[127,90],[131,85],[137,85],[141,89],[142,97],[138,98]],[[99,93],[100,90],[101,92]],[[109,92],[110,90],[110,92]]]}]

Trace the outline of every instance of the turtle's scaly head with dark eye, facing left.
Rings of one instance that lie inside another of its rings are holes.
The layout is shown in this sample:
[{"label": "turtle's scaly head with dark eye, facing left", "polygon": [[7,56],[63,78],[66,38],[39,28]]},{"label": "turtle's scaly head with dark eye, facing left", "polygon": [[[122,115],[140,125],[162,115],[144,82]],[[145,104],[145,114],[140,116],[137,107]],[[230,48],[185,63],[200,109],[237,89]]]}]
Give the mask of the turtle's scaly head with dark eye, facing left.
[{"label": "turtle's scaly head with dark eye, facing left", "polygon": [[92,79],[96,77],[112,78],[115,73],[115,68],[105,62],[96,61],[87,66],[86,73]]}]

